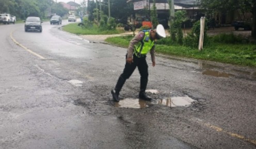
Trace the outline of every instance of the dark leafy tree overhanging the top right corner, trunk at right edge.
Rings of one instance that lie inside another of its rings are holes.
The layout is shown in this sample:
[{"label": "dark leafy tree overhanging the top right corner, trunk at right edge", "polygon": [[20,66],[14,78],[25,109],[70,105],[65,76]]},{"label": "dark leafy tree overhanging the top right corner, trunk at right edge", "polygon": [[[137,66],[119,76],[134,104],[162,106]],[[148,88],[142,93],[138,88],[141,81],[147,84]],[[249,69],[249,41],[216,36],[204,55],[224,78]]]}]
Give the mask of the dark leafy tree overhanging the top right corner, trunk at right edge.
[{"label": "dark leafy tree overhanging the top right corner, trunk at right edge", "polygon": [[197,0],[201,8],[210,13],[241,11],[252,13],[251,36],[256,38],[256,1],[255,0]]}]

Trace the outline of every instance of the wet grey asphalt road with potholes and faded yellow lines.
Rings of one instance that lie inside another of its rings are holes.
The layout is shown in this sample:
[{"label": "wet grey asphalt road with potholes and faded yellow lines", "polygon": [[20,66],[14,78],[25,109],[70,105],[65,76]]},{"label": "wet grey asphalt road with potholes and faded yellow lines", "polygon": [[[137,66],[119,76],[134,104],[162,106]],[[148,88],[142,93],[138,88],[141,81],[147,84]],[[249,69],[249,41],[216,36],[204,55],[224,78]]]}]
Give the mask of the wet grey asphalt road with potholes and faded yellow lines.
[{"label": "wet grey asphalt road with potholes and faded yellow lines", "polygon": [[256,69],[164,55],[153,68],[148,56],[154,100],[138,100],[135,70],[117,104],[126,49],[59,27],[0,25],[1,149],[256,148]]}]

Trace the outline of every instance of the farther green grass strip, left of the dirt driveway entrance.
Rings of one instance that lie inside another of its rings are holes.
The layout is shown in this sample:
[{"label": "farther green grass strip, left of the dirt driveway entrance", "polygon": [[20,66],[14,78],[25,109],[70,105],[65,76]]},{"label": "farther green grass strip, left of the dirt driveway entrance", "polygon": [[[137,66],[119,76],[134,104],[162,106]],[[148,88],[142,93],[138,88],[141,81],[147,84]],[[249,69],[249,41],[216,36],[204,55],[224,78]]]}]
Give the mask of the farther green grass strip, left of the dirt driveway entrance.
[{"label": "farther green grass strip, left of the dirt driveway entrance", "polygon": [[76,35],[110,35],[120,34],[123,30],[99,30],[98,27],[93,26],[91,28],[82,28],[78,26],[78,23],[71,23],[62,27],[63,30]]}]

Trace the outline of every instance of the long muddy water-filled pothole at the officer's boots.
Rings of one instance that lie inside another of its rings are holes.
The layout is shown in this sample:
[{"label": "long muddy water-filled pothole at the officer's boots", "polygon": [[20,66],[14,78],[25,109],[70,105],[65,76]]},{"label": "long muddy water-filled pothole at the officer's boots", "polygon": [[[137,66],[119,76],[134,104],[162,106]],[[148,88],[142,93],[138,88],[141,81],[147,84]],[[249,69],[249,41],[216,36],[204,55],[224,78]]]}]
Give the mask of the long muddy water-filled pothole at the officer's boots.
[{"label": "long muddy water-filled pothole at the officer's boots", "polygon": [[195,102],[192,98],[188,96],[184,97],[169,97],[163,100],[156,100],[152,102],[139,100],[136,98],[125,98],[120,100],[118,103],[115,104],[115,107],[118,108],[136,108],[136,109],[143,109],[153,105],[163,105],[167,107],[177,107],[183,106],[188,107],[191,103]]}]

